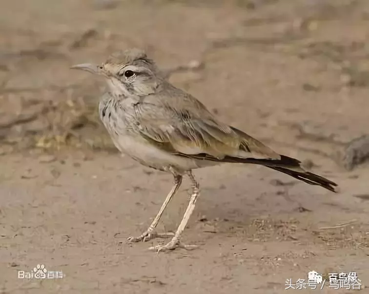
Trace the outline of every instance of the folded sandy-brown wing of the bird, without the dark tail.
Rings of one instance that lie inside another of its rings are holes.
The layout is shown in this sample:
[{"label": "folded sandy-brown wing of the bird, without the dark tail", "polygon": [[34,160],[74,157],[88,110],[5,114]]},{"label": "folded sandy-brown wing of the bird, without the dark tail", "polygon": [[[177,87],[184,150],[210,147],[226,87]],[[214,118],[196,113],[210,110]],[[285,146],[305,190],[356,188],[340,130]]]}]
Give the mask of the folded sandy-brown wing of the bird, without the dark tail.
[{"label": "folded sandy-brown wing of the bird, without the dark tail", "polygon": [[195,108],[183,106],[138,104],[134,131],[156,147],[192,158],[280,159],[279,154],[258,140],[217,121],[201,103],[192,105]]}]

